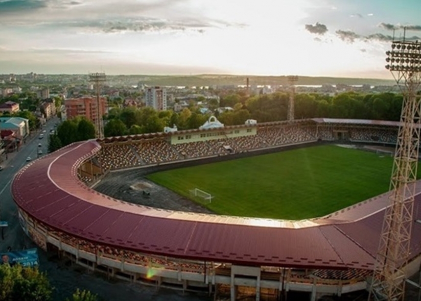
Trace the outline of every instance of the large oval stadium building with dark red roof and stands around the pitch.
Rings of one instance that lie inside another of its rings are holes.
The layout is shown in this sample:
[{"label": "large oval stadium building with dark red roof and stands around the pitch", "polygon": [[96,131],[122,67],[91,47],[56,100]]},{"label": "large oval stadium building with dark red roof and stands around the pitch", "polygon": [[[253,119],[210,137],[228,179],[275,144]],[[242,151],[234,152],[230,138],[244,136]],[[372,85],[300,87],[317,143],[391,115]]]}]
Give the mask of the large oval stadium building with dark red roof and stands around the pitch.
[{"label": "large oval stadium building with dark red roof and stands around the pitch", "polygon": [[[398,126],[323,118],[223,126],[210,118],[195,130],[71,144],[26,165],[12,195],[23,230],[41,249],[109,277],[207,291],[215,300],[343,296],[367,288],[387,193],[291,221],[145,206],[94,187],[115,171],[173,169],[319,144],[394,147]],[[416,210],[414,219],[420,216]],[[415,225],[407,275],[419,270],[420,238]]]}]

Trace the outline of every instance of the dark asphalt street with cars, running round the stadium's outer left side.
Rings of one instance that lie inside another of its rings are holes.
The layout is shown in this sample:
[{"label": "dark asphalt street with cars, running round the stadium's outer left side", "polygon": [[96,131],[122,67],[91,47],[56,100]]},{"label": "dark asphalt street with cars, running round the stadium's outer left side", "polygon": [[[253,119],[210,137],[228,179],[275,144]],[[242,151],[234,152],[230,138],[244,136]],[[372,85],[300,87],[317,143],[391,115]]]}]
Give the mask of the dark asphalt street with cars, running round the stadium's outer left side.
[{"label": "dark asphalt street with cars, running round the stadium's outer left side", "polygon": [[[0,220],[7,221],[9,226],[3,230],[4,239],[0,236],[0,252],[7,251],[10,247],[12,250],[21,250],[23,247],[35,248],[36,245],[24,234],[19,226],[18,213],[16,204],[14,203],[11,192],[10,183],[13,176],[28,162],[26,158],[31,157],[32,160],[37,158],[38,150],[42,149],[43,155],[47,153],[47,135],[58,119],[51,119],[47,122],[44,130],[44,138],[39,139],[41,132],[37,132],[27,139],[21,149],[9,154],[8,160],[3,162],[0,171]],[[41,143],[41,147],[38,144]],[[87,289],[97,294],[100,300],[142,300],[142,301],[196,301],[196,300],[212,300],[208,294],[185,293],[181,291],[161,288],[157,290],[154,286],[146,286],[133,284],[126,281],[107,280],[102,276],[88,273],[87,270],[69,266],[63,261],[58,261],[51,254],[39,249],[40,270],[47,273],[48,279],[54,287],[53,300],[62,301],[69,298],[71,294],[79,289]]]}]

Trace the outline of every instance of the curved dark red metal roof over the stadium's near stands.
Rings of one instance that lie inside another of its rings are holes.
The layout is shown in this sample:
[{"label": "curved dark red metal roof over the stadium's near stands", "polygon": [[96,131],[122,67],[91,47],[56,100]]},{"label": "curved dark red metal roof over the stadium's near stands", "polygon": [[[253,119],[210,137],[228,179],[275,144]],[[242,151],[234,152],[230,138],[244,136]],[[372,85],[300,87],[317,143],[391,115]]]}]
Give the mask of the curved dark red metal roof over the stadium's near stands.
[{"label": "curved dark red metal roof over the stadium's near stands", "polygon": [[[175,212],[118,201],[78,180],[77,166],[99,150],[81,142],[26,165],[12,184],[15,202],[48,226],[116,248],[243,265],[374,268],[386,194],[297,222]],[[421,225],[412,234],[421,238]],[[412,256],[420,242],[412,240]]]}]

